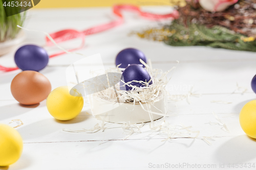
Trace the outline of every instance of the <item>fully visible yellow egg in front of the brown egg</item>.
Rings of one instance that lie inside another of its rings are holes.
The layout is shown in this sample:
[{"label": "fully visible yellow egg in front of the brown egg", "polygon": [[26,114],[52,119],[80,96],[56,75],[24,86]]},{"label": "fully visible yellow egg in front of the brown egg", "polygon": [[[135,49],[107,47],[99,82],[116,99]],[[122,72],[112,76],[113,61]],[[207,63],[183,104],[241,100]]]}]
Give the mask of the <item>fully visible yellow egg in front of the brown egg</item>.
[{"label": "fully visible yellow egg in front of the brown egg", "polygon": [[49,113],[54,118],[70,120],[81,112],[83,97],[81,95],[70,95],[68,86],[61,86],[55,88],[49,94],[46,105]]}]

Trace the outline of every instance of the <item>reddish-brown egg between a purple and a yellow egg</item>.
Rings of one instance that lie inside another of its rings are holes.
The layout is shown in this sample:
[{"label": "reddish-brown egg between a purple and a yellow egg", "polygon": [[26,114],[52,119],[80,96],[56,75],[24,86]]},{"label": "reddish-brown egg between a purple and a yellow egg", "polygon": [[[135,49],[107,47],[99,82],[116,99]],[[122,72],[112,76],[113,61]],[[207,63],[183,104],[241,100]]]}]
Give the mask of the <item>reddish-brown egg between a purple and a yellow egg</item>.
[{"label": "reddish-brown egg between a purple and a yellow egg", "polygon": [[13,97],[24,105],[34,105],[45,100],[52,89],[50,81],[37,71],[22,71],[11,83]]}]

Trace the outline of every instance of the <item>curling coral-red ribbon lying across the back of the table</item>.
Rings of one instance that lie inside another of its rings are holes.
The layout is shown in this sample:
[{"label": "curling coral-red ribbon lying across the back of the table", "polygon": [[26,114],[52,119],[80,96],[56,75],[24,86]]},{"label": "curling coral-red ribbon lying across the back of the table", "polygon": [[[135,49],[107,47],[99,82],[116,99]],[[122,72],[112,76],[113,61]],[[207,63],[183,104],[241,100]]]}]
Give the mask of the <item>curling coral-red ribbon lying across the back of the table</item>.
[{"label": "curling coral-red ribbon lying across the back of the table", "polygon": [[[122,10],[138,12],[140,16],[143,16],[147,19],[152,19],[152,20],[159,20],[159,19],[166,19],[166,18],[177,19],[179,17],[179,13],[176,10],[174,10],[172,13],[169,13],[169,14],[158,15],[158,14],[143,12],[140,10],[139,7],[133,6],[133,5],[115,5],[115,6],[113,6],[113,13],[119,17],[115,21],[104,23],[102,25],[86,29],[82,32],[69,29],[69,30],[62,30],[62,31],[58,31],[56,33],[52,33],[52,34],[50,34],[50,36],[54,39],[54,41],[56,43],[71,40],[74,38],[81,38],[82,39],[81,45],[77,48],[73,48],[68,51],[71,52],[71,51],[79,50],[84,46],[86,35],[96,34],[96,33],[106,31],[106,30],[109,30],[111,28],[121,25],[124,22],[123,15],[121,14]],[[52,41],[48,37],[46,37],[46,44],[53,45]],[[59,56],[62,54],[66,54],[66,52],[59,52],[56,54],[52,54],[52,55],[50,55],[50,58],[56,57],[56,56]],[[2,71],[8,72],[8,71],[16,70],[16,69],[18,69],[18,67],[4,67],[4,66],[0,65],[0,70],[2,70]]]}]

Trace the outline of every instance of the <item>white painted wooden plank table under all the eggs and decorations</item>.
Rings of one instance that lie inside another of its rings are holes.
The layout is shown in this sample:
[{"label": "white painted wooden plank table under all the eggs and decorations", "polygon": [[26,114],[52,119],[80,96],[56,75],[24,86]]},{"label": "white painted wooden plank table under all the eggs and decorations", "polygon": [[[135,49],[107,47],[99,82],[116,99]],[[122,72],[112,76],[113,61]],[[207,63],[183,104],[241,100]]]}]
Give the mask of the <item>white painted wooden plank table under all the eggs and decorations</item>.
[{"label": "white painted wooden plank table under all the eggs and decorations", "polygon": [[[169,7],[143,9],[158,13],[170,11]],[[200,131],[199,136],[162,142],[165,136],[151,134],[148,124],[141,129],[142,133],[133,134],[126,140],[123,140],[126,134],[120,128],[93,134],[62,131],[90,129],[98,120],[86,114],[90,110],[88,105],[68,122],[55,120],[47,111],[46,101],[37,107],[20,106],[10,91],[12,79],[20,72],[16,70],[0,74],[0,123],[8,124],[12,119],[20,119],[24,123],[16,128],[23,137],[24,151],[9,169],[152,169],[158,164],[176,165],[183,169],[188,168],[188,164],[190,167],[197,164],[201,168],[206,165],[224,169],[220,164],[225,163],[226,168],[228,163],[256,165],[256,140],[247,137],[239,124],[240,110],[244,104],[255,100],[250,81],[256,74],[256,54],[210,47],[173,47],[127,36],[131,31],[159,23],[145,20],[137,14],[124,12],[124,15],[126,21],[122,26],[88,36],[87,46],[79,52],[88,56],[100,53],[105,68],[113,67],[116,54],[126,47],[140,49],[152,60],[154,68],[164,71],[179,60],[180,64],[167,86],[170,94],[186,95],[193,86],[193,93],[201,96],[191,95],[191,104],[187,100],[170,102],[168,109],[172,116],[166,120],[174,126],[191,126],[191,130]],[[25,27],[52,33],[68,28],[83,30],[111,19],[114,19],[111,8],[30,10]],[[25,44],[45,45],[44,34],[26,34]],[[69,48],[78,43],[71,41],[62,46]],[[56,47],[46,49],[50,54],[59,51]],[[52,89],[66,85],[65,69],[78,59],[80,57],[76,55],[50,59],[41,73],[50,80]],[[0,57],[0,63],[15,66],[13,53]],[[213,112],[226,124],[230,133],[215,124],[219,122]]]}]

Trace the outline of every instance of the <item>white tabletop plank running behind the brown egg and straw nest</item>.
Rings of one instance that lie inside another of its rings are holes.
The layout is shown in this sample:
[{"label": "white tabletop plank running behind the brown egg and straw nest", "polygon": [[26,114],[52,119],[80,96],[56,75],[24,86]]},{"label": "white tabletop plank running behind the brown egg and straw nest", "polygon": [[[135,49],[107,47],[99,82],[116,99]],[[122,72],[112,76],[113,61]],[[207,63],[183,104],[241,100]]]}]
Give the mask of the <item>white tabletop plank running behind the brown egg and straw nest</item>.
[{"label": "white tabletop plank running behind the brown egg and straw nest", "polygon": [[[80,57],[81,58],[81,57]],[[74,60],[73,60],[74,61]],[[72,63],[69,60],[70,64]],[[154,68],[163,71],[176,66],[176,63],[154,64]],[[68,66],[68,65],[67,65]],[[66,67],[47,67],[40,71],[51,82],[52,89],[66,85]],[[104,65],[106,69],[113,65]],[[19,71],[8,72],[0,75],[0,100],[13,100],[10,92],[10,83]],[[187,94],[194,86],[196,93],[242,93],[252,92],[250,82],[256,73],[254,62],[212,62],[212,63],[180,63],[170,80],[167,90],[170,94]],[[169,74],[169,77],[172,74]],[[238,84],[238,85],[237,85]],[[239,87],[238,87],[239,86]]]}]

